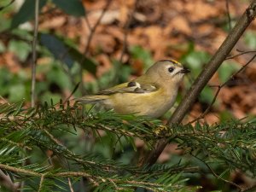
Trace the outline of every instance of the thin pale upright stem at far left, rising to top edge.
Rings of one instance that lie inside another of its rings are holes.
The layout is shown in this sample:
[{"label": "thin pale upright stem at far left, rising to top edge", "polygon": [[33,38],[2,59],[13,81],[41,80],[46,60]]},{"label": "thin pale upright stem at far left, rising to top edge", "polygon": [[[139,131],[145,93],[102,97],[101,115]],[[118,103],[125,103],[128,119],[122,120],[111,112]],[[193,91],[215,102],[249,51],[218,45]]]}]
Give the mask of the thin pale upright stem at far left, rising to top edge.
[{"label": "thin pale upright stem at far left, rising to top edge", "polygon": [[35,107],[35,89],[36,89],[36,67],[37,67],[37,44],[38,44],[38,15],[39,0],[35,1],[35,26],[32,41],[32,87],[31,87],[31,106]]}]

